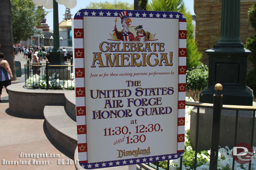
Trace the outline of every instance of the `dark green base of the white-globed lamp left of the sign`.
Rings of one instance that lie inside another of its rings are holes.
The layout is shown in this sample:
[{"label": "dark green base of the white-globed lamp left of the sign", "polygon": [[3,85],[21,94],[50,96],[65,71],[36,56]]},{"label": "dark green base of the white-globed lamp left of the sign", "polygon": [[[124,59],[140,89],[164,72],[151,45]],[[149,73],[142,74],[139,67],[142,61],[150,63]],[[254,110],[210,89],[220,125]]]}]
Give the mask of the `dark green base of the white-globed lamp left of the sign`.
[{"label": "dark green base of the white-globed lamp left of the sign", "polygon": [[49,65],[66,65],[64,60],[65,51],[51,50],[49,52]]}]

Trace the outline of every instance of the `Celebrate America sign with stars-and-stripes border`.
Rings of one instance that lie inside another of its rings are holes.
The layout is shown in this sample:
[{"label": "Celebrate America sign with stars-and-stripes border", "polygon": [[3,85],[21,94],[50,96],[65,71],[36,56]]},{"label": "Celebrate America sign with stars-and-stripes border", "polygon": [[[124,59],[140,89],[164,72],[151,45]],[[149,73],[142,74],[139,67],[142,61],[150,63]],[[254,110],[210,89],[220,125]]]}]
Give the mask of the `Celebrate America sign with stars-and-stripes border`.
[{"label": "Celebrate America sign with stars-and-stripes border", "polygon": [[185,142],[184,15],[81,9],[73,35],[80,165],[136,168],[179,158]]}]

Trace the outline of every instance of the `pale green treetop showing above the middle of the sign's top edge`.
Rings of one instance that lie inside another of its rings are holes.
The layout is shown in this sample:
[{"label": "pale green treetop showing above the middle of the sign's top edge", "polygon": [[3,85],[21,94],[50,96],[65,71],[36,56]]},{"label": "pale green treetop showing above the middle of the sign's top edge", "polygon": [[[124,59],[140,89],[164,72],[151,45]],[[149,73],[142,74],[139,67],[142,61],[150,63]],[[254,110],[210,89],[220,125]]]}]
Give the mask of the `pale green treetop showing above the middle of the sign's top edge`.
[{"label": "pale green treetop showing above the middle of the sign's top edge", "polygon": [[123,9],[123,10],[133,10],[133,4],[129,2],[114,0],[113,3],[105,2],[90,2],[85,8],[87,9]]}]

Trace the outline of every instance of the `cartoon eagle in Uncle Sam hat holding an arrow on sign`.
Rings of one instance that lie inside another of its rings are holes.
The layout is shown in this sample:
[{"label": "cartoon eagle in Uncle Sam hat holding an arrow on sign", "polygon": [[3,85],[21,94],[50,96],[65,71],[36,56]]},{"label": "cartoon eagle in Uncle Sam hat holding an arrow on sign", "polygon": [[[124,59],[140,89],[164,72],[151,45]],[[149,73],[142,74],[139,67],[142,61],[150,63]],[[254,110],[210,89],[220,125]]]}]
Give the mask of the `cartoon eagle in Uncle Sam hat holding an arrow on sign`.
[{"label": "cartoon eagle in Uncle Sam hat holding an arrow on sign", "polygon": [[134,37],[133,33],[131,33],[128,28],[129,25],[131,25],[132,20],[127,17],[127,11],[121,12],[119,14],[119,17],[121,18],[121,24],[122,24],[123,30],[121,32],[119,32],[115,26],[114,31],[115,31],[116,37],[119,40],[122,40],[125,42],[135,41],[135,37]]}]

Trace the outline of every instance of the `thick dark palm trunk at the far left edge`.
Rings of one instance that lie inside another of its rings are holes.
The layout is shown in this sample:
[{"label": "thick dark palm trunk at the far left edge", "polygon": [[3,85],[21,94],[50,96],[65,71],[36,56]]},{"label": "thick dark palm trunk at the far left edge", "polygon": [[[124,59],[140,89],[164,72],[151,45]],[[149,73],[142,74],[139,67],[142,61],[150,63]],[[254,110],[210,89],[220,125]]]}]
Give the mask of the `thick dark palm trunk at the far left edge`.
[{"label": "thick dark palm trunk at the far left edge", "polygon": [[13,73],[13,80],[16,80],[15,61],[13,53],[13,29],[10,0],[0,1],[0,45]]}]

